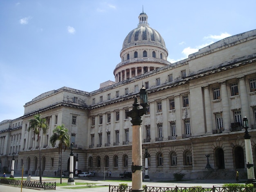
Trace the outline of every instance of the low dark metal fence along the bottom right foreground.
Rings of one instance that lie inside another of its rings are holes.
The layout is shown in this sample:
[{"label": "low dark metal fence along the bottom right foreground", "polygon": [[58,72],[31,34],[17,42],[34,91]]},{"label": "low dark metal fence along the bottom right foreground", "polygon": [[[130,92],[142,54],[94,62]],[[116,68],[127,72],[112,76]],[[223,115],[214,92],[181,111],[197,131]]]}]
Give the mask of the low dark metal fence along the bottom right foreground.
[{"label": "low dark metal fence along the bottom right foreground", "polygon": [[[215,187],[201,188],[201,187],[148,187],[143,186],[144,192],[256,192],[256,188],[232,188],[232,187]],[[132,187],[127,186],[121,188],[120,186],[109,185],[109,192],[132,192]]]}]

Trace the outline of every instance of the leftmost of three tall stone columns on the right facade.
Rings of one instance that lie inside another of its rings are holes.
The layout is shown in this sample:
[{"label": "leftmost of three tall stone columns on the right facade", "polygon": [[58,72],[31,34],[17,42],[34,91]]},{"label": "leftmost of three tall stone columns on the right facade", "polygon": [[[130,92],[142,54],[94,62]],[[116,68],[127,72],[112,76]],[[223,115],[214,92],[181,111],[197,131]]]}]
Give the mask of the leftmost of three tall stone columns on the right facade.
[{"label": "leftmost of three tall stone columns on the right facade", "polygon": [[209,86],[204,87],[204,105],[205,105],[206,133],[212,133],[213,118],[212,118],[211,96],[210,96]]}]

